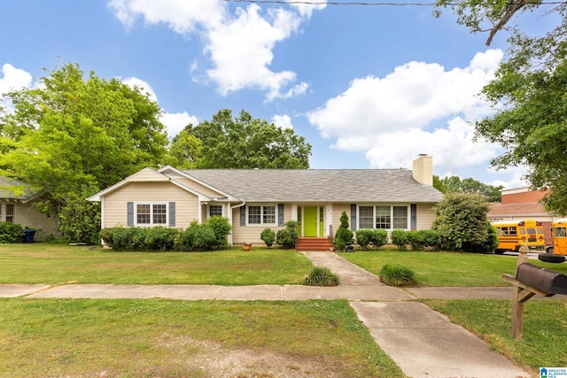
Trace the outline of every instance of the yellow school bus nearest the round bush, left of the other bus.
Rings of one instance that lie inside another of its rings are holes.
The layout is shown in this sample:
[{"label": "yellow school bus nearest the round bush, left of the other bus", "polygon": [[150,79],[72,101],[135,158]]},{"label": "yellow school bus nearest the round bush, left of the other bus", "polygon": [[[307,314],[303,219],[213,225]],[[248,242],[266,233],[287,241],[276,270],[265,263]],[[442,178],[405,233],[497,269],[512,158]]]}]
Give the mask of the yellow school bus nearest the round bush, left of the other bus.
[{"label": "yellow school bus nearest the round bush, left of the other bus", "polygon": [[518,251],[525,242],[530,251],[545,250],[543,227],[537,220],[503,220],[492,223],[498,233],[496,253]]}]

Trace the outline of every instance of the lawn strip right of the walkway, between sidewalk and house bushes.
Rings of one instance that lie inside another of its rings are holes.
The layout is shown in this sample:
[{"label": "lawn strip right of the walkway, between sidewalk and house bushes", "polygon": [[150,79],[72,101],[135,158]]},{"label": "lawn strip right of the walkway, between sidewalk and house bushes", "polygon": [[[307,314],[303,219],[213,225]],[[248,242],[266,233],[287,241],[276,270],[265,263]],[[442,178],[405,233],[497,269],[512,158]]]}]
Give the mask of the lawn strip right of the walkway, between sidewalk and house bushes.
[{"label": "lawn strip right of the walkway, between sidewalk and house bushes", "polygon": [[[416,272],[417,286],[509,286],[502,274],[516,274],[516,257],[458,252],[356,251],[341,257],[380,275],[382,266],[399,263]],[[567,274],[567,264],[530,263]]]}]

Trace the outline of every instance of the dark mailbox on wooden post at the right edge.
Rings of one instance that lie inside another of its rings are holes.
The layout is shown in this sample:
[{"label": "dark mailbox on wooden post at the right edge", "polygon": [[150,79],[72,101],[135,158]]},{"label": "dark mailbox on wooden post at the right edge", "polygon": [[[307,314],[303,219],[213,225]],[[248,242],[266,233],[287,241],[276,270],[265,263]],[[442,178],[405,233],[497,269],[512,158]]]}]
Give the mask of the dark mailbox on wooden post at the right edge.
[{"label": "dark mailbox on wooden post at the right edge", "polygon": [[517,266],[516,279],[549,294],[567,294],[567,275],[530,263]]}]

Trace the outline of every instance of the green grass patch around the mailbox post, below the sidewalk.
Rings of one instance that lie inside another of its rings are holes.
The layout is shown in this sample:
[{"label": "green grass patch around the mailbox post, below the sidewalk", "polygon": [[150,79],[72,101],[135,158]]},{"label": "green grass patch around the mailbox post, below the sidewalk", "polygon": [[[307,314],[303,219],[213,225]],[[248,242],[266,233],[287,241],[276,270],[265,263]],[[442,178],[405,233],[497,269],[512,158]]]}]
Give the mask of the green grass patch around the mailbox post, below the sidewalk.
[{"label": "green grass patch around the mailbox post, below the sidewalk", "polygon": [[511,300],[427,300],[433,310],[468,328],[509,359],[537,375],[540,367],[567,366],[567,300],[532,299],[524,304],[522,340],[511,332]]}]

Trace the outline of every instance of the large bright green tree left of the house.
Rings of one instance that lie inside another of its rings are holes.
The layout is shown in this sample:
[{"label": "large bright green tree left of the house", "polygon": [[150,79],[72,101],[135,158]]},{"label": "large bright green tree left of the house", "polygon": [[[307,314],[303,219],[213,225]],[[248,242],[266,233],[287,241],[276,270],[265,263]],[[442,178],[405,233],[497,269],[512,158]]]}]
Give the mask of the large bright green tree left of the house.
[{"label": "large bright green tree left of the house", "polygon": [[85,78],[71,64],[41,83],[8,95],[15,111],[0,114],[0,137],[9,146],[0,150],[0,174],[58,199],[164,162],[161,110],[140,89],[92,72]]}]

